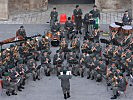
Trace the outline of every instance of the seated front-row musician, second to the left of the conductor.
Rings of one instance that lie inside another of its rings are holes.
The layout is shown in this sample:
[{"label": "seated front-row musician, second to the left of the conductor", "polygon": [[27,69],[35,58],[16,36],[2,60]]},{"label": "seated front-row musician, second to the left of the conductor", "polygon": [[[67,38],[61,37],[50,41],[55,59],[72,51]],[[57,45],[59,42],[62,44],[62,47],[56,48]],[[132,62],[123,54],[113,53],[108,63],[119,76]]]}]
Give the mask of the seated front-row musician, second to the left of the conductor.
[{"label": "seated front-row musician, second to the left of the conductor", "polygon": [[43,51],[43,54],[41,57],[41,65],[44,68],[45,75],[50,76],[50,72],[52,71],[51,58],[47,50]]}]

